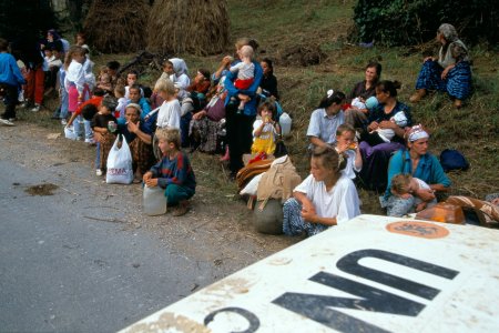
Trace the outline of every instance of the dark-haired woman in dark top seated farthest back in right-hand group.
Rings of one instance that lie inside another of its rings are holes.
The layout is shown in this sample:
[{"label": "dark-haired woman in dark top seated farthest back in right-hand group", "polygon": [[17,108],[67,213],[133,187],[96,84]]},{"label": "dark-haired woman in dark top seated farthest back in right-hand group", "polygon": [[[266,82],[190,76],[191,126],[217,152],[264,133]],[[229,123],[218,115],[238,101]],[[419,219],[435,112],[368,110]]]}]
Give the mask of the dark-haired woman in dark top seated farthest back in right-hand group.
[{"label": "dark-haired woman in dark top seated farthest back in right-hand group", "polygon": [[[350,94],[347,97],[347,101],[352,101],[356,98],[368,99],[376,95],[376,84],[378,84],[381,78],[381,64],[376,61],[371,61],[366,65],[365,79],[364,81],[355,84]],[[369,111],[367,108],[356,108],[350,105],[350,108],[345,110],[345,123],[353,125],[354,128],[363,128],[367,121]]]}]

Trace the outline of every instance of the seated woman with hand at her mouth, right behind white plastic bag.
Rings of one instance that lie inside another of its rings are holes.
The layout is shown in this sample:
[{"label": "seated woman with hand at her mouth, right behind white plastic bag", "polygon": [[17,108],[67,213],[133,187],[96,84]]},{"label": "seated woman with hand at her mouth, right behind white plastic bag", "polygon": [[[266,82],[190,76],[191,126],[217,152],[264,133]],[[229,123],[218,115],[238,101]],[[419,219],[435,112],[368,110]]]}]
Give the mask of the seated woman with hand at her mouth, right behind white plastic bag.
[{"label": "seated woman with hand at her mouth, right behind white plastic bag", "polygon": [[118,124],[118,132],[123,134],[132,152],[132,168],[138,178],[147,172],[155,163],[152,149],[152,138],[155,131],[155,120],[141,120],[142,109],[136,103],[125,108],[125,123]]}]

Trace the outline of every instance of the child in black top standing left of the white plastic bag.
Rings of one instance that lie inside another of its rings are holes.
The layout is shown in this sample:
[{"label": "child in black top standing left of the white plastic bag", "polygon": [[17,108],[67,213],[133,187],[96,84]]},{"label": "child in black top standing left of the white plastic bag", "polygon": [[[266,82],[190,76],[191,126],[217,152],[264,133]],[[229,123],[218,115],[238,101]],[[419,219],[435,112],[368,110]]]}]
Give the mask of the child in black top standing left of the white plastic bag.
[{"label": "child in black top standing left of the white plastic bag", "polygon": [[[118,102],[113,97],[104,97],[99,108],[99,112],[95,113],[92,119],[92,129],[95,131],[96,141],[100,143],[96,150],[99,155],[95,157],[95,164],[99,162],[99,167],[95,170],[96,175],[102,175],[105,171],[108,154],[114,143],[116,119],[112,112],[116,109],[116,105]],[[112,122],[114,123],[114,127]]]}]

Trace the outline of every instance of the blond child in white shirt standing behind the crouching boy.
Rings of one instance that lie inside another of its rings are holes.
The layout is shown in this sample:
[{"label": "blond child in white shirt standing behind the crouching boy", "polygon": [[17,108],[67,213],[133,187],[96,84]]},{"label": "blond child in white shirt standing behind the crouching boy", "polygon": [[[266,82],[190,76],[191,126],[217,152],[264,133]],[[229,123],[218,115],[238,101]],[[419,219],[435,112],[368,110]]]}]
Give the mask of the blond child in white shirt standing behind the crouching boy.
[{"label": "blond child in white shirt standing behind the crouching boy", "polygon": [[[181,105],[176,99],[175,87],[170,80],[160,79],[154,85],[154,91],[164,100],[157,112],[156,128],[180,129]],[[154,155],[160,159],[161,152],[157,149],[157,140],[153,141]],[[180,145],[179,145],[180,147]]]}]

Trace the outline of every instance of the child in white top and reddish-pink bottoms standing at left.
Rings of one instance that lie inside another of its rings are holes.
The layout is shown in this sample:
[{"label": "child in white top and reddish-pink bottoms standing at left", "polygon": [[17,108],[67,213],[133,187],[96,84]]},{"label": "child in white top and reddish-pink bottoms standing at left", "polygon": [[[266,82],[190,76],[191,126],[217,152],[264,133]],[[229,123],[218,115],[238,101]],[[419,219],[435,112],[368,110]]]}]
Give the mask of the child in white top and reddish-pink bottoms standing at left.
[{"label": "child in white top and reddish-pink bottoms standing at left", "polygon": [[[83,62],[85,61],[85,51],[80,47],[72,47],[69,51],[71,54],[71,63],[65,70],[64,88],[68,92],[68,111],[73,113],[78,105],[89,99],[89,85],[85,81],[85,71]],[[74,132],[80,134],[80,120],[81,117],[77,117],[74,122]],[[83,121],[85,142],[93,143],[93,133],[89,121]]]}]

